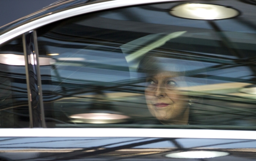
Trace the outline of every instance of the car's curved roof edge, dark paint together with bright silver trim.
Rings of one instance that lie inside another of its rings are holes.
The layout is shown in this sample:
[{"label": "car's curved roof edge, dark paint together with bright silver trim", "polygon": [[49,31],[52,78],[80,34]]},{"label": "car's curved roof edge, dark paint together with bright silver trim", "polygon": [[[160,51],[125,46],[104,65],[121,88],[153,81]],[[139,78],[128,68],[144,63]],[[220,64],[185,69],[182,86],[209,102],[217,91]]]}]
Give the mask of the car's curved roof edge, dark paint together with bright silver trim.
[{"label": "car's curved roof edge, dark paint together with bright silver trim", "polygon": [[[69,0],[57,3],[0,28],[0,44],[65,18],[111,8],[183,0]],[[192,1],[192,0],[191,0]],[[90,4],[90,5],[89,5]]]}]

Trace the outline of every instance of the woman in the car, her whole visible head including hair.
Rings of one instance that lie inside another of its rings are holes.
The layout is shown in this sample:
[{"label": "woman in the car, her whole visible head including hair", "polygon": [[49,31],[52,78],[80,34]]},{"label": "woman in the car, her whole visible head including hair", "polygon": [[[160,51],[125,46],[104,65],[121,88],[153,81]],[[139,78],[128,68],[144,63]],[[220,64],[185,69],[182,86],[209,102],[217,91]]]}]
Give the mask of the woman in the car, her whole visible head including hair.
[{"label": "woman in the car, her whole visible head including hair", "polygon": [[148,53],[139,69],[146,74],[145,99],[150,113],[162,124],[188,124],[189,99],[177,89],[187,86],[184,64],[164,54]]}]

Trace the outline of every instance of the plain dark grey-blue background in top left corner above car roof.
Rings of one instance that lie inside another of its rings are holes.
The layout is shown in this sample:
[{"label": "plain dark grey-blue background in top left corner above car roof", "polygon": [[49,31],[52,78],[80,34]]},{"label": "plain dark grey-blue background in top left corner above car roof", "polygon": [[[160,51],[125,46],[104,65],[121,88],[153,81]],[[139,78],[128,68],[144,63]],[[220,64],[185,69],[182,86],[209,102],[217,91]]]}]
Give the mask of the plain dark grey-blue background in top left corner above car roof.
[{"label": "plain dark grey-blue background in top left corner above car roof", "polygon": [[0,26],[38,11],[58,0],[0,0]]}]

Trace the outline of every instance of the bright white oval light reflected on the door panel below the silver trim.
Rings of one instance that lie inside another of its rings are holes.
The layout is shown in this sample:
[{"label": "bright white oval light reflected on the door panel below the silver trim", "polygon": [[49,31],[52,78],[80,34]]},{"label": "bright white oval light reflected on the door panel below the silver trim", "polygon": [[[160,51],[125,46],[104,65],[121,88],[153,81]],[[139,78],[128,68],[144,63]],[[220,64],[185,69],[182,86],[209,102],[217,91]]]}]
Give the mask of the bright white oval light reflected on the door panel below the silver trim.
[{"label": "bright white oval light reflected on the door panel below the silver trim", "polygon": [[227,152],[218,152],[218,151],[189,151],[189,152],[177,152],[170,153],[165,155],[168,158],[215,158],[221,156],[227,156],[229,153]]}]

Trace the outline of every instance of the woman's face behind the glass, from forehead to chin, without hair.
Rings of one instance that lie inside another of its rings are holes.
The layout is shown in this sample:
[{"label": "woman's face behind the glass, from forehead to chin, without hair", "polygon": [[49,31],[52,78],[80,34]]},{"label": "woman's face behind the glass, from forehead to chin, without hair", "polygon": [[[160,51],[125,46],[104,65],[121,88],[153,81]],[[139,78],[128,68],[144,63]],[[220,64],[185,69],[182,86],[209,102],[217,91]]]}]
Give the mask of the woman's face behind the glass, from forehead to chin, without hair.
[{"label": "woman's face behind the glass, from forehead to chin, without hair", "polygon": [[164,124],[187,124],[189,108],[177,93],[179,77],[160,72],[147,78],[145,98],[151,114]]}]

